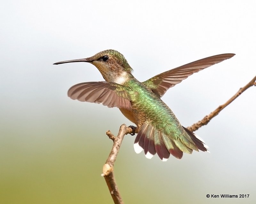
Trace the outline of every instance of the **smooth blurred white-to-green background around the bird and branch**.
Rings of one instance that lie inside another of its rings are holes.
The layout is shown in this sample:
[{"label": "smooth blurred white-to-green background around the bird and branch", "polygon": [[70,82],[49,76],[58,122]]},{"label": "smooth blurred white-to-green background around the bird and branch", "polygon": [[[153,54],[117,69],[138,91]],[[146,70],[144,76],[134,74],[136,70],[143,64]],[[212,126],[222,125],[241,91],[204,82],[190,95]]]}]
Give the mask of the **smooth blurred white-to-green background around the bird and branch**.
[{"label": "smooth blurred white-to-green background around the bird and branch", "polygon": [[[189,77],[164,102],[186,127],[255,76],[255,1],[5,1],[0,8],[0,203],[113,203],[100,176],[117,108],[67,97],[102,81],[90,64],[52,65],[104,49],[143,81],[207,56],[232,59]],[[255,87],[196,131],[211,153],[148,160],[127,135],[115,163],[125,203],[255,203]],[[206,194],[250,194],[206,198]]]}]

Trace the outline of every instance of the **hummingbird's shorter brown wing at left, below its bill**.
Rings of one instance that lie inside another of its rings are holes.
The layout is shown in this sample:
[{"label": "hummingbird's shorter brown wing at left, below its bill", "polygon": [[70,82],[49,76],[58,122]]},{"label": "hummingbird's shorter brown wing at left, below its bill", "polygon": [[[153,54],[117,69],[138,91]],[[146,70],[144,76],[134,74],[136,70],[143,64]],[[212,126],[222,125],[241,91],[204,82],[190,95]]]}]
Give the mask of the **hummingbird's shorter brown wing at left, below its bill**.
[{"label": "hummingbird's shorter brown wing at left, below its bill", "polygon": [[131,110],[131,102],[123,86],[109,82],[84,82],[72,86],[68,97],[79,101],[102,103],[109,108],[118,107]]}]

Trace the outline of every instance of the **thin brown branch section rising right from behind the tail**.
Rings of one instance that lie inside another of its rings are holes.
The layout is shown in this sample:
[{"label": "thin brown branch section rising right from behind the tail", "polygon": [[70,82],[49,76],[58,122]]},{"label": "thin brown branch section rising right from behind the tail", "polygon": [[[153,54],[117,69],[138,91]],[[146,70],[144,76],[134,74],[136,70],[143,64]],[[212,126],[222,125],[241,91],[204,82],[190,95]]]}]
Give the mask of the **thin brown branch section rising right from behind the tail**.
[{"label": "thin brown branch section rising right from behind the tail", "polygon": [[238,96],[240,96],[241,93],[243,93],[246,89],[248,89],[251,86],[256,86],[256,76],[243,88],[240,88],[239,91],[236,92],[234,96],[232,96],[226,103],[220,105],[218,108],[216,108],[212,113],[209,115],[206,115],[203,120],[198,121],[197,123],[194,123],[193,125],[189,126],[188,129],[192,132],[198,130],[203,125],[207,125],[210,120],[212,120],[213,117],[218,115],[221,110],[223,110],[226,106],[228,106],[233,100],[235,100]]}]

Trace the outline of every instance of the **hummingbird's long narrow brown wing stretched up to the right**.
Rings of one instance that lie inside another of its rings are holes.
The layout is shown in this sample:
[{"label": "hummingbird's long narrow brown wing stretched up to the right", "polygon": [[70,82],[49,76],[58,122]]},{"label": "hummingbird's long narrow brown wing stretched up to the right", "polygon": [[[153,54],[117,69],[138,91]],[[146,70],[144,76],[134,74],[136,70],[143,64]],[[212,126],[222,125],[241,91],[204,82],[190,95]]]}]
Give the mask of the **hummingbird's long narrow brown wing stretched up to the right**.
[{"label": "hummingbird's long narrow brown wing stretched up to the right", "polygon": [[155,77],[143,82],[143,84],[145,84],[148,88],[151,88],[157,96],[162,97],[169,88],[179,84],[183,79],[188,78],[188,76],[192,75],[193,73],[199,72],[207,67],[222,62],[223,60],[229,59],[234,55],[235,54],[221,54],[206,57],[204,59],[197,60],[195,62],[191,62],[158,74]]}]

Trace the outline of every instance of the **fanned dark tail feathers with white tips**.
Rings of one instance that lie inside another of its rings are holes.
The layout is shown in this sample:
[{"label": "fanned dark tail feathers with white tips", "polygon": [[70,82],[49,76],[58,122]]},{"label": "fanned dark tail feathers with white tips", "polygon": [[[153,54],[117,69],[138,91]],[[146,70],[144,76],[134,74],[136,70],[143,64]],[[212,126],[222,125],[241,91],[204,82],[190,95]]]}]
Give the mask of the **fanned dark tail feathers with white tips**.
[{"label": "fanned dark tail feathers with white tips", "polygon": [[165,135],[160,130],[154,128],[148,121],[145,121],[134,141],[134,150],[139,154],[144,149],[145,156],[148,159],[151,159],[157,153],[162,161],[167,161],[170,154],[181,159],[183,152],[191,154],[193,150],[198,151],[198,149],[208,151],[208,147],[197,135],[187,128],[184,128],[184,130],[188,133],[191,139],[182,137],[182,139],[174,140],[170,136]]}]

